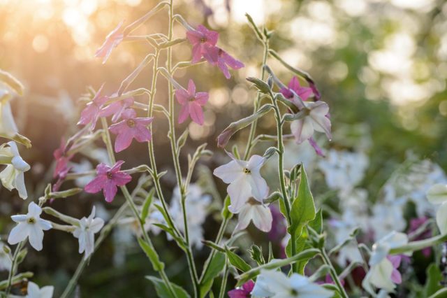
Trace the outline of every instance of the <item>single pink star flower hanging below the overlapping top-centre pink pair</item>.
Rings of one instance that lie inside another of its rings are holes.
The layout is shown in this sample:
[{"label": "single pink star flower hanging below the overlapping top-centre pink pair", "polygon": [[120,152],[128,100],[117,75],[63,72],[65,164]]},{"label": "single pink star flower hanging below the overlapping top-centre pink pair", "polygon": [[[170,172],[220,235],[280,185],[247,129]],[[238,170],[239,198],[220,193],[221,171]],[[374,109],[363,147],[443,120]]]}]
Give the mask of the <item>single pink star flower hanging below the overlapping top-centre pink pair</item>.
[{"label": "single pink star flower hanging below the overlapping top-centre pink pair", "polygon": [[202,106],[208,101],[207,92],[196,93],[196,85],[194,85],[193,80],[189,80],[188,90],[175,90],[175,97],[177,97],[179,104],[182,105],[179,123],[183,123],[188,118],[188,115],[190,115],[193,122],[196,122],[198,125],[203,125]]}]

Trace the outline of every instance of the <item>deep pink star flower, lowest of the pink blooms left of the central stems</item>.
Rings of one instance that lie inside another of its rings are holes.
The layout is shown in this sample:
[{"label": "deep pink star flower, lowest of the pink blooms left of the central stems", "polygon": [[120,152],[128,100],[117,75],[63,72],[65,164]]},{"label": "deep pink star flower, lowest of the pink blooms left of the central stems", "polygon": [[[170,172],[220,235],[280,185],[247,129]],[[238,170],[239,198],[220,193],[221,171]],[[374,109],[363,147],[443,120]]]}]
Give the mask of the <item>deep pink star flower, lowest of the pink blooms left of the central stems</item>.
[{"label": "deep pink star flower, lowest of the pink blooms left of the central stems", "polygon": [[98,164],[96,166],[96,178],[85,185],[85,191],[94,194],[103,190],[105,201],[109,203],[113,201],[117,194],[117,186],[124,186],[132,180],[128,173],[120,171],[122,164],[124,164],[122,160],[111,168],[107,164]]}]

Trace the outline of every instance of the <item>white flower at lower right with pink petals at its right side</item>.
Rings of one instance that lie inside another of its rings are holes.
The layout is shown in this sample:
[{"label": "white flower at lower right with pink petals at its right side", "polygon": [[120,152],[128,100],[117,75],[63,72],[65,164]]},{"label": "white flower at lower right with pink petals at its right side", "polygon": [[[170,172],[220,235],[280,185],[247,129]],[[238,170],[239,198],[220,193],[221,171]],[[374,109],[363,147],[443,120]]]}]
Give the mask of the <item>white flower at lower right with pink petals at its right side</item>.
[{"label": "white flower at lower right with pink petals at its right side", "polygon": [[400,258],[390,256],[392,248],[408,243],[408,237],[404,233],[391,232],[372,246],[372,254],[369,259],[369,271],[362,281],[362,286],[369,293],[374,293],[372,285],[376,288],[393,292],[395,283],[401,283],[402,278],[397,271]]}]

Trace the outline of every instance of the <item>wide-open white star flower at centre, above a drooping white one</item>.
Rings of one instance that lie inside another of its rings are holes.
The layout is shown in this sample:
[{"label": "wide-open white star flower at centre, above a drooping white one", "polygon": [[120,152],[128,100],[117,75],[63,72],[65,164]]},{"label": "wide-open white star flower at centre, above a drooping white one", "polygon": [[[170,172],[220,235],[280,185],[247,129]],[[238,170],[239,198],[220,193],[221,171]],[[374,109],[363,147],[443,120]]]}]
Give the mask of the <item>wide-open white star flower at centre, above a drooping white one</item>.
[{"label": "wide-open white star flower at centre, above a drooping white one", "polygon": [[224,183],[230,184],[227,187],[231,201],[228,209],[236,213],[250,197],[254,197],[262,203],[263,199],[268,196],[268,185],[259,173],[265,162],[263,157],[253,155],[248,162],[235,159],[233,155],[230,157],[233,159],[231,162],[214,169],[214,176],[221,178]]}]

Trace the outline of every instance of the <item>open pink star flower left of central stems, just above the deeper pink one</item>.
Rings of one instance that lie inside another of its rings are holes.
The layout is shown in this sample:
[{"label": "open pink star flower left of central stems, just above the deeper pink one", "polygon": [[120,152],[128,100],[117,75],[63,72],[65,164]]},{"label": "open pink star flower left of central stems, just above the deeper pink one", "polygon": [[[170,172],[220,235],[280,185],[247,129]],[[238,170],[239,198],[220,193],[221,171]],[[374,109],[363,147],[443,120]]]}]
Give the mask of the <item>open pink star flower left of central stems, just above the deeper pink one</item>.
[{"label": "open pink star flower left of central stems, just above the deeper pink one", "polygon": [[147,128],[153,118],[136,118],[137,113],[133,108],[126,108],[122,113],[123,120],[117,124],[111,125],[109,130],[112,134],[117,134],[115,140],[115,152],[131,146],[132,140],[146,142],[152,139],[151,132]]}]

